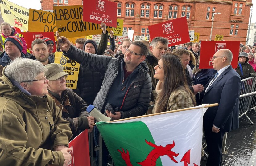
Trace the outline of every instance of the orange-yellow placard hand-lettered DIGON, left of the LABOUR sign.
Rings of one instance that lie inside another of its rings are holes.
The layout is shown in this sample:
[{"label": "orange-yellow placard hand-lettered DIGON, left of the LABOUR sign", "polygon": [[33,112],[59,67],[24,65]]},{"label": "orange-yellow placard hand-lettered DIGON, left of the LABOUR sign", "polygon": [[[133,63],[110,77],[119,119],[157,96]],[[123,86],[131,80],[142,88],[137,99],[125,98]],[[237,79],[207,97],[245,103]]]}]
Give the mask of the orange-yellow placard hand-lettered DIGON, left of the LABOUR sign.
[{"label": "orange-yellow placard hand-lettered DIGON, left of the LABOUR sign", "polygon": [[35,9],[29,9],[29,13],[29,32],[54,32],[54,36],[56,35],[57,27],[53,13]]}]

